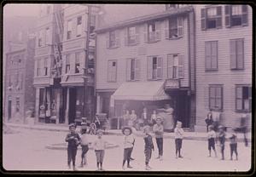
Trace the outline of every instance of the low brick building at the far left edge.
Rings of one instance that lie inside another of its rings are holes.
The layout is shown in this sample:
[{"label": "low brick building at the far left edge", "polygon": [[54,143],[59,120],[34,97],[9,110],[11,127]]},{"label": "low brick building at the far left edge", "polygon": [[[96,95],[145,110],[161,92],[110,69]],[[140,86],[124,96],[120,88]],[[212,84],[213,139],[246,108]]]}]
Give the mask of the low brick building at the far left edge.
[{"label": "low brick building at the far left edge", "polygon": [[4,77],[4,117],[6,122],[25,123],[26,111],[33,110],[35,90],[32,87],[35,37],[28,39],[24,49],[6,54]]}]

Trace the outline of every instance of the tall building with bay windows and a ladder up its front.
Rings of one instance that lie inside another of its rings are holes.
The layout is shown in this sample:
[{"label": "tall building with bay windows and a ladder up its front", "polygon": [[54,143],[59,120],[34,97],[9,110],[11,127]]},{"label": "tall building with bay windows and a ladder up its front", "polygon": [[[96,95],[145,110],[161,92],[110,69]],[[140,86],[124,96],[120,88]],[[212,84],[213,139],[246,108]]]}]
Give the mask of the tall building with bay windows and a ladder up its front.
[{"label": "tall building with bay windows and a ladder up its front", "polygon": [[39,123],[67,124],[94,114],[93,31],[97,8],[88,7],[41,7],[34,74]]}]

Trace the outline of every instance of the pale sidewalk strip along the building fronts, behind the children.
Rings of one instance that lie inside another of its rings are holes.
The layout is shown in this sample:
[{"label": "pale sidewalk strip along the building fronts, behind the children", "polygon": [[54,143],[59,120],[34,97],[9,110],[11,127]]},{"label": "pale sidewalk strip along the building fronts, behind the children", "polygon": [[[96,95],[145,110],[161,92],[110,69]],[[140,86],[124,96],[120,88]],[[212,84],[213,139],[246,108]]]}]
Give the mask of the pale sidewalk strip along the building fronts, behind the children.
[{"label": "pale sidewalk strip along the building fronts, behind the children", "polygon": [[[67,125],[55,125],[55,124],[18,124],[18,123],[4,123],[10,128],[28,128],[28,129],[38,129],[46,131],[59,131],[59,132],[68,132]],[[109,129],[107,130],[108,135],[123,135],[120,129]],[[137,131],[137,136],[142,137],[143,132]],[[227,133],[227,138],[230,137],[230,133]],[[164,138],[174,139],[174,133],[165,133]],[[184,140],[207,140],[207,132],[184,132]],[[251,133],[247,134],[247,139],[251,141]],[[243,141],[243,134],[237,134],[237,140],[239,142]]]}]

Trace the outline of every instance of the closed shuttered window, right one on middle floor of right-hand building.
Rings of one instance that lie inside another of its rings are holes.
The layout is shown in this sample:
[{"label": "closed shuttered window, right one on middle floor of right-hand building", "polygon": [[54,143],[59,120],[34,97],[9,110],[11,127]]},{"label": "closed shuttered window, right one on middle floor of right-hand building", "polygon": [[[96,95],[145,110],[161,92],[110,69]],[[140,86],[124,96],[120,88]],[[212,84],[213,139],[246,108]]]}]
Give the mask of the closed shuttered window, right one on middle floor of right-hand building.
[{"label": "closed shuttered window, right one on middle floor of right-hand building", "polygon": [[244,45],[243,39],[230,40],[230,68],[243,69],[244,64]]}]

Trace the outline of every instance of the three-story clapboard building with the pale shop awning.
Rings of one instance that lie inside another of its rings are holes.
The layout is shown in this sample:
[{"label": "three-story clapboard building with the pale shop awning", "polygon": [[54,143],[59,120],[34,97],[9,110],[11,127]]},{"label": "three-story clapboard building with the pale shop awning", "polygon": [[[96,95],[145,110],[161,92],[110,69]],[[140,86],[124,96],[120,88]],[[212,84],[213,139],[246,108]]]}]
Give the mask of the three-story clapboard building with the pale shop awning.
[{"label": "three-story clapboard building with the pale shop awning", "polygon": [[[195,123],[195,14],[168,6],[96,30],[97,112],[121,117],[169,103],[186,128]],[[143,9],[145,12],[147,8]]]}]

